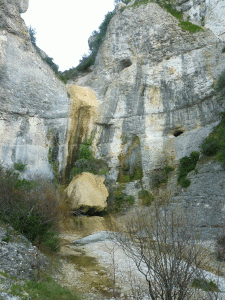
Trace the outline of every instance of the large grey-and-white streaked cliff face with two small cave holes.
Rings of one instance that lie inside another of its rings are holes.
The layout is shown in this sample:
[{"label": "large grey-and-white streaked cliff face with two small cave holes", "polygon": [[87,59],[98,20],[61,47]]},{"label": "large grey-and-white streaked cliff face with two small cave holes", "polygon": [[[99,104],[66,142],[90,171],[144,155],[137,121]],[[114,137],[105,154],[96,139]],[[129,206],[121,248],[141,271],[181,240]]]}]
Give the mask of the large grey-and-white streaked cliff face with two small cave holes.
[{"label": "large grey-and-white streaked cliff face with two small cave holes", "polygon": [[111,179],[138,138],[148,186],[152,170],[197,150],[224,110],[212,87],[225,68],[224,43],[178,23],[155,3],[117,9],[93,72],[77,81],[99,101],[93,150]]}]

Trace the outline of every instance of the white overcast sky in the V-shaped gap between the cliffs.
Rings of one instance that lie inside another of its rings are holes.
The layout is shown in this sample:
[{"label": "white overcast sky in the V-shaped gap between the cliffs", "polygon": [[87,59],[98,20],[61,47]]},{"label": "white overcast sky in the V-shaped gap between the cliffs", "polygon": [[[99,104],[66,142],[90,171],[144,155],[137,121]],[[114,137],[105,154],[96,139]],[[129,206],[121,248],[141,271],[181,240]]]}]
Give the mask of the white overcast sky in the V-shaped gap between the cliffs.
[{"label": "white overcast sky in the V-shaped gap between the cliffs", "polygon": [[113,9],[114,0],[29,0],[21,16],[36,30],[37,46],[64,71],[88,53],[89,36]]}]

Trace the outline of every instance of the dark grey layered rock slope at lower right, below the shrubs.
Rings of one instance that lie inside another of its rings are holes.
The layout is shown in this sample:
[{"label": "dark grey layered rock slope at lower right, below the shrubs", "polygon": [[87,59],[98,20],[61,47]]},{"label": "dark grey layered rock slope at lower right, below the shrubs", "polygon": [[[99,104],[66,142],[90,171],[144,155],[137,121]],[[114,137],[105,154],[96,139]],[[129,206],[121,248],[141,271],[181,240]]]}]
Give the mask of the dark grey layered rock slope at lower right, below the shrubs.
[{"label": "dark grey layered rock slope at lower right, below the shrubs", "polygon": [[[197,173],[188,174],[188,188],[177,186],[177,174],[172,174],[166,192],[173,195],[172,207],[180,206],[193,216],[201,239],[216,239],[224,234],[225,171],[220,163],[202,158],[196,169]],[[159,189],[159,194],[165,192],[164,188]]]}]

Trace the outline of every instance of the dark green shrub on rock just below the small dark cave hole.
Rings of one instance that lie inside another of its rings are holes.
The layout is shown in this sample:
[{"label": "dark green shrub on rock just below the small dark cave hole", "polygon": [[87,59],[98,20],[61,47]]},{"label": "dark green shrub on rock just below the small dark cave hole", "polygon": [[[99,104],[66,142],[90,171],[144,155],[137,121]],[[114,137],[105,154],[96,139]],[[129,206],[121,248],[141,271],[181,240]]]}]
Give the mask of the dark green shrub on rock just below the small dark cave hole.
[{"label": "dark green shrub on rock just below the small dark cave hole", "polygon": [[190,157],[185,156],[181,158],[180,160],[180,167],[179,167],[179,175],[178,175],[178,183],[182,187],[189,187],[191,184],[191,181],[187,179],[188,173],[195,170],[195,167],[197,165],[197,162],[199,160],[199,152],[193,151],[190,155]]}]

